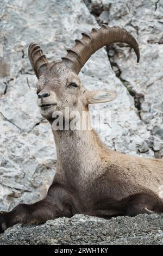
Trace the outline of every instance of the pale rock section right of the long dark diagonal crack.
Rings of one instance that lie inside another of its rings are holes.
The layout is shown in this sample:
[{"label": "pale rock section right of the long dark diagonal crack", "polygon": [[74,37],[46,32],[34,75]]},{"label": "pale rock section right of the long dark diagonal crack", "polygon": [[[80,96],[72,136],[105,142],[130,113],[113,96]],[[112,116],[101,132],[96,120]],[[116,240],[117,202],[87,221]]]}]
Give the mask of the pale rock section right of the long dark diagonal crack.
[{"label": "pale rock section right of the long dark diagonal crack", "polygon": [[[108,55],[116,75],[134,96],[139,117],[151,139],[145,149],[154,151],[155,157],[163,156],[162,95],[163,95],[163,2],[156,0],[92,0],[85,1],[98,23],[122,26],[131,32],[140,47],[140,63],[133,65],[133,54],[128,46],[108,46]],[[96,13],[96,10],[100,10]]]}]

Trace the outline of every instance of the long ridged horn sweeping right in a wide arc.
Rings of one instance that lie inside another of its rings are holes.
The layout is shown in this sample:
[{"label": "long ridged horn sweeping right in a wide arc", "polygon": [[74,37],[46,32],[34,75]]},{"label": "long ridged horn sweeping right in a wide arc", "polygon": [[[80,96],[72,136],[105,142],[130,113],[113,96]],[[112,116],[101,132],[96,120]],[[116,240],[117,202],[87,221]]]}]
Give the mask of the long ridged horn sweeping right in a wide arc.
[{"label": "long ridged horn sweeping right in a wide arc", "polygon": [[139,46],[134,36],[124,28],[102,25],[99,29],[92,28],[90,34],[82,33],[82,35],[82,39],[76,39],[76,45],[72,49],[67,49],[67,56],[62,58],[62,61],[77,74],[93,53],[114,42],[125,42],[133,47],[137,63],[139,62]]}]

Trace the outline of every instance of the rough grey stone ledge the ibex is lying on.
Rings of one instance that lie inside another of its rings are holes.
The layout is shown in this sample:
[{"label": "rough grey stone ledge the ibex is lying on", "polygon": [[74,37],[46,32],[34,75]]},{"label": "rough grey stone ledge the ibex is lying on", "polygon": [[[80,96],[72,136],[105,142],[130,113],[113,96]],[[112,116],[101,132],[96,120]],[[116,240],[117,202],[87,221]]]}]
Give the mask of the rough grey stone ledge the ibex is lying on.
[{"label": "rough grey stone ledge the ibex is lying on", "polygon": [[0,245],[162,245],[163,215],[111,220],[75,215],[43,225],[17,224],[0,234]]}]

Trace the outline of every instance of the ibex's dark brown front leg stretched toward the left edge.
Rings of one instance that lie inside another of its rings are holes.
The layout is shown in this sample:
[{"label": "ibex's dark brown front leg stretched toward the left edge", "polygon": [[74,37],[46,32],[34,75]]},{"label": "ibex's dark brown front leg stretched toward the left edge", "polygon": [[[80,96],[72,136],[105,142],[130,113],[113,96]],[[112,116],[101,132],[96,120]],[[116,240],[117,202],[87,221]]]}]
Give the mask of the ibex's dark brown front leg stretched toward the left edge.
[{"label": "ibex's dark brown front leg stretched toward the left edge", "polygon": [[[49,194],[52,194],[50,196]],[[34,204],[19,204],[0,214],[0,233],[17,223],[45,223],[59,217],[72,217],[71,199],[61,187],[53,186],[48,196]]]}]

